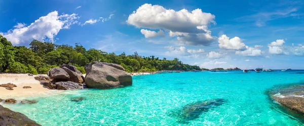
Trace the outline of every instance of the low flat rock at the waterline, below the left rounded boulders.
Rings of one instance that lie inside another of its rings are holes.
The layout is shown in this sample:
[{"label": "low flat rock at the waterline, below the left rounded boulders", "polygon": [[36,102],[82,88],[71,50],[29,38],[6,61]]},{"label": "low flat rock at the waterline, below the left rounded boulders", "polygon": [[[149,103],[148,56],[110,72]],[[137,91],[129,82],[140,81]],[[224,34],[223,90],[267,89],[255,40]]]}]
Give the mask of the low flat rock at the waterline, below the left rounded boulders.
[{"label": "low flat rock at the waterline, below the left rounded boulders", "polygon": [[56,82],[55,85],[57,90],[84,89],[83,84],[75,83],[71,81]]}]

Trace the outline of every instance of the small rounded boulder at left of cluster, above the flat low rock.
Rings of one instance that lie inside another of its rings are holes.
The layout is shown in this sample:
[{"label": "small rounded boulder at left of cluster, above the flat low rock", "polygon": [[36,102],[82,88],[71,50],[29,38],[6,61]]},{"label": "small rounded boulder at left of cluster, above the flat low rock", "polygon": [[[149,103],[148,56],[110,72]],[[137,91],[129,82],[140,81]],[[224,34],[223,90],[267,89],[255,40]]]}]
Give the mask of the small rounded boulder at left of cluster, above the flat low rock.
[{"label": "small rounded boulder at left of cluster, above the flat low rock", "polygon": [[52,68],[47,74],[51,79],[56,81],[68,81],[70,76],[62,68]]}]

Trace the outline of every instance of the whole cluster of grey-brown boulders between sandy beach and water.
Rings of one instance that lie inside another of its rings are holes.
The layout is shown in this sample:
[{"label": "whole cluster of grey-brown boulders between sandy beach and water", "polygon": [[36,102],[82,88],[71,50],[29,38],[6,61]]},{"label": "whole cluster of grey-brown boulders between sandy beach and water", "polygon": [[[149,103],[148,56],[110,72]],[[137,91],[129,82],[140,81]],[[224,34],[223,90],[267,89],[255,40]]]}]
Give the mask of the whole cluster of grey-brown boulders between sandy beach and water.
[{"label": "whole cluster of grey-brown boulders between sandy beach and water", "polygon": [[72,65],[53,68],[46,76],[37,76],[42,85],[49,89],[69,90],[98,88],[108,89],[132,85],[132,77],[121,65],[94,61],[85,66],[86,77]]}]

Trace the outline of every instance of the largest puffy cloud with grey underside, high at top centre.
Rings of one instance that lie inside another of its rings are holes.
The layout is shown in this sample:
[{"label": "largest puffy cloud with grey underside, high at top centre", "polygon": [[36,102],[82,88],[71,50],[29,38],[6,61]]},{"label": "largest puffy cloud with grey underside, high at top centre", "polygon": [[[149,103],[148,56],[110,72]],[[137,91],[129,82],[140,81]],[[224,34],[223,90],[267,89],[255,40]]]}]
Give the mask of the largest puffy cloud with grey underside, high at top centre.
[{"label": "largest puffy cloud with grey underside, high at top centre", "polygon": [[215,24],[215,16],[201,9],[188,12],[174,11],[162,6],[144,4],[129,15],[126,21],[137,28],[164,29],[171,37],[177,36],[182,44],[210,45],[214,41],[208,25]]}]

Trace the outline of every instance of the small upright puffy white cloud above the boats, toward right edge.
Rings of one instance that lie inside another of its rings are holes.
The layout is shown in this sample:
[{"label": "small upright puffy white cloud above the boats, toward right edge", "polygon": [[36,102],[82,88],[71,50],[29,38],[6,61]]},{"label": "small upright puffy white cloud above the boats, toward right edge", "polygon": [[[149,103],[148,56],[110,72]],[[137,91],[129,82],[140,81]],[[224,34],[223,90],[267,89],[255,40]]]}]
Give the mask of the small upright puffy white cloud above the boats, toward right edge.
[{"label": "small upright puffy white cloud above the boats, toward right edge", "polygon": [[269,53],[271,54],[289,54],[286,51],[286,48],[283,46],[285,41],[283,39],[278,39],[276,41],[271,42],[268,44]]}]

